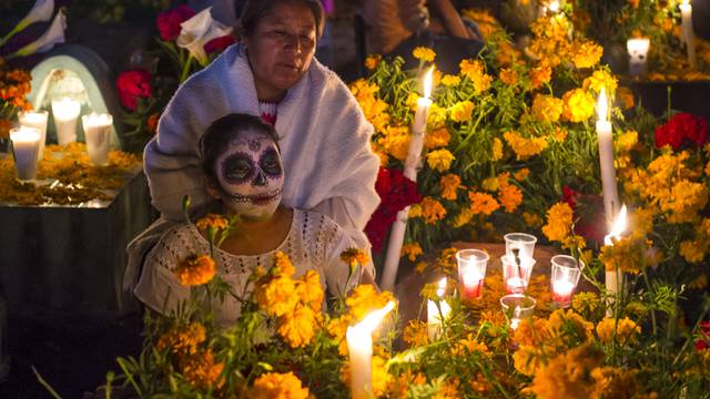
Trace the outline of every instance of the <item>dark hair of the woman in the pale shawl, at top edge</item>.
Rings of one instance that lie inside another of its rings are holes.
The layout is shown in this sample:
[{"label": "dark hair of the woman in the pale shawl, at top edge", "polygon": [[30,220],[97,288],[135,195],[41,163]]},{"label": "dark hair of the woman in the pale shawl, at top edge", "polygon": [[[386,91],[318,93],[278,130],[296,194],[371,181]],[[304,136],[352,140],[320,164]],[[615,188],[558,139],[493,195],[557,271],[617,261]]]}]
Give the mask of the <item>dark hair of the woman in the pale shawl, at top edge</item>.
[{"label": "dark hair of the woman in the pale shawl, at top edge", "polygon": [[325,23],[325,13],[323,12],[321,0],[246,0],[236,25],[236,35],[239,38],[251,37],[256,30],[258,21],[271,14],[276,6],[283,3],[296,3],[307,7],[315,20],[316,38],[321,38]]}]

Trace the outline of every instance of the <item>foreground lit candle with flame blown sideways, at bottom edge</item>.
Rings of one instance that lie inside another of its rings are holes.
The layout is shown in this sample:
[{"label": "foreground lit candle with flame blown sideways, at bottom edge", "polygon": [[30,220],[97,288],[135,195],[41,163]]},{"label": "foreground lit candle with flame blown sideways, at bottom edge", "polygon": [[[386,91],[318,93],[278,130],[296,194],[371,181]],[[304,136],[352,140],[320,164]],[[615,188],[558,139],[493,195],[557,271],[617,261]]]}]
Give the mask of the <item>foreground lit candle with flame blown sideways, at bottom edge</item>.
[{"label": "foreground lit candle with flame blown sideways, at bottom edge", "polygon": [[372,358],[373,331],[382,319],[394,309],[389,301],[384,308],[373,310],[355,326],[347,327],[345,338],[351,362],[351,396],[353,399],[368,399],[373,397]]}]

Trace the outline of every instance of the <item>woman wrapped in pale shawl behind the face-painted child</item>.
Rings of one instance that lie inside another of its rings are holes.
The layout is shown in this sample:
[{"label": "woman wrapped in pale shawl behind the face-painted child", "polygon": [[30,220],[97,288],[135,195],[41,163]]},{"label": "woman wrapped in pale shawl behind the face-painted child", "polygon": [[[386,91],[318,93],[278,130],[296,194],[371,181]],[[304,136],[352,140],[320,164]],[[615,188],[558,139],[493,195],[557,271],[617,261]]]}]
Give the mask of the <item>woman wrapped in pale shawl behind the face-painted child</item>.
[{"label": "woman wrapped in pale shawl behind the face-painted child", "polygon": [[144,153],[162,217],[129,245],[124,286],[133,286],[144,254],[181,219],[184,195],[196,211],[213,201],[203,190],[197,143],[212,121],[234,112],[261,115],[282,136],[283,204],[322,212],[358,247],[369,247],[363,228],[379,202],[373,127],[347,86],[313,58],[323,23],[318,0],[247,1],[241,42],[178,90]]}]

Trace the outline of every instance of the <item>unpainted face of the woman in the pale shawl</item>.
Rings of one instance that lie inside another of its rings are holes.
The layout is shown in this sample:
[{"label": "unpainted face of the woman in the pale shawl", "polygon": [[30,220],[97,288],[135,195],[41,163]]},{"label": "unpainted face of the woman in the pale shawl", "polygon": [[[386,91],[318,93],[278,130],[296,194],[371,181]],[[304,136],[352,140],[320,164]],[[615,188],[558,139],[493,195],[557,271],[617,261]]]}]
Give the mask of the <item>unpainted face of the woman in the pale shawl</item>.
[{"label": "unpainted face of the woman in the pale shawl", "polygon": [[[303,76],[315,52],[315,18],[304,4],[281,3],[244,39],[256,91],[285,93]],[[278,99],[280,100],[280,99]]]}]

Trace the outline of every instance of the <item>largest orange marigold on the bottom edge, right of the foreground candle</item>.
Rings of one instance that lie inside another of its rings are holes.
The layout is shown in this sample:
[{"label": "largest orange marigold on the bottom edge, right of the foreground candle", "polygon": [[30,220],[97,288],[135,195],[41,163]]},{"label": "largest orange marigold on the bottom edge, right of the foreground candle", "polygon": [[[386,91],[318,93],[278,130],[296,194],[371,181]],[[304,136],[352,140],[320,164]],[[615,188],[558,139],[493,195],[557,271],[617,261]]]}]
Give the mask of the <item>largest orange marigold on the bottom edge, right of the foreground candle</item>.
[{"label": "largest orange marigold on the bottom edge, right of the foreground candle", "polygon": [[604,354],[590,344],[561,352],[535,374],[530,391],[539,399],[590,398],[589,374],[602,360]]}]

